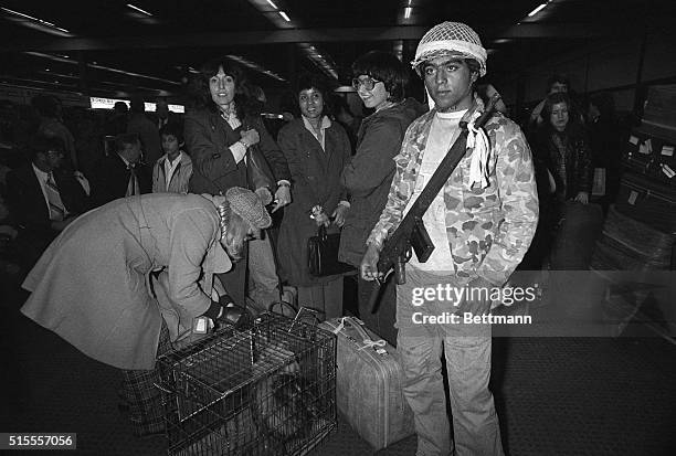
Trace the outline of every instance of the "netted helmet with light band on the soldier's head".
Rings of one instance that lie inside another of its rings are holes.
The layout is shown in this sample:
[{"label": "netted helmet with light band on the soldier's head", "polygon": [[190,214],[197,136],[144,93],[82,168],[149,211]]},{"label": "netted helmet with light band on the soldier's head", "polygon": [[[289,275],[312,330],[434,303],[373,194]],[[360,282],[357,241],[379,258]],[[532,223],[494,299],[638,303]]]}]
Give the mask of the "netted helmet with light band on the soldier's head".
[{"label": "netted helmet with light band on the soldier's head", "polygon": [[486,75],[486,50],[474,30],[462,22],[442,22],[425,33],[415,50],[415,60],[411,62],[419,74],[421,63],[436,56],[457,53],[473,59],[479,64],[479,76]]}]

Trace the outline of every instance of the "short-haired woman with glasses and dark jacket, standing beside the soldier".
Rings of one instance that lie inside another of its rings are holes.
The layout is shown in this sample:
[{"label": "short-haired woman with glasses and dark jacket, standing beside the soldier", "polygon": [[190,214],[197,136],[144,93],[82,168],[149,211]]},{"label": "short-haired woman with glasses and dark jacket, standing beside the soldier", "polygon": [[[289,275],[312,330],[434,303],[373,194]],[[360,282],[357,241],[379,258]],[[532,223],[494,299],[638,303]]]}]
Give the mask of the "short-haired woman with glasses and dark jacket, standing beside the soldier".
[{"label": "short-haired woman with glasses and dark jacket, standing beside the soldier", "polygon": [[[366,240],[385,205],[394,174],[392,158],[399,153],[409,124],[425,109],[415,99],[404,98],[408,70],[392,54],[371,51],[362,55],[352,64],[352,86],[365,107],[374,109],[361,123],[357,134],[357,152],[341,176],[350,197],[350,209],[338,256],[340,261],[359,267],[366,253]],[[391,330],[393,314],[389,321],[379,324],[379,319],[367,309],[373,282],[358,280],[361,319],[380,336],[391,339],[384,331]]]}]

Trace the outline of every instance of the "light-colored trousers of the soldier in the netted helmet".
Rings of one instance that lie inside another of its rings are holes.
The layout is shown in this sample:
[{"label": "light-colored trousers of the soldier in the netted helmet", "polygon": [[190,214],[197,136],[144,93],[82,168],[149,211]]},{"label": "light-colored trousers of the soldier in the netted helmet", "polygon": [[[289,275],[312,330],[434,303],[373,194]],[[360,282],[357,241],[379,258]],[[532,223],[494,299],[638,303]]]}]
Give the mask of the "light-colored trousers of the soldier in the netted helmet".
[{"label": "light-colored trousers of the soldier in the netted helmet", "polygon": [[[414,287],[436,286],[440,277],[406,268],[397,286],[397,350],[404,371],[403,393],[413,410],[416,456],[503,456],[500,430],[490,380],[490,326],[413,325],[413,311],[440,314],[448,303],[412,306]],[[442,353],[448,373],[453,442],[446,414]]]}]

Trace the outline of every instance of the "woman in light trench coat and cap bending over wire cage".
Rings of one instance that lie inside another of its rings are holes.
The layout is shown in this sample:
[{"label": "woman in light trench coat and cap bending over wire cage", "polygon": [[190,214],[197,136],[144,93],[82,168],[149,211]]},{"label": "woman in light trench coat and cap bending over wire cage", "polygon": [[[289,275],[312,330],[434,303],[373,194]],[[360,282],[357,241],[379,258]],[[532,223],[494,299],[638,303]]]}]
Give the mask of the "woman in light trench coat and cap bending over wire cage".
[{"label": "woman in light trench coat and cap bending over wire cage", "polygon": [[[267,227],[258,198],[152,193],[124,198],[74,221],[45,251],[23,288],[21,311],[83,353],[124,370],[135,434],[163,428],[156,357],[190,333],[193,318],[218,318],[213,274],[232,267],[244,242]],[[160,272],[157,296],[150,272]],[[161,291],[161,293],[160,293]],[[163,317],[163,318],[162,318]]]}]

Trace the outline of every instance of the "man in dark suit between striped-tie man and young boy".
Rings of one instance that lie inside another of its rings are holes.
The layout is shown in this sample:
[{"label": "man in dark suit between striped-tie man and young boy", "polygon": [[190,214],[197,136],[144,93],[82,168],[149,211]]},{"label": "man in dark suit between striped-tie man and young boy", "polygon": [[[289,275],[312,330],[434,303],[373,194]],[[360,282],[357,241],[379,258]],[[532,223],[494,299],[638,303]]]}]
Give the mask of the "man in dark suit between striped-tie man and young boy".
[{"label": "man in dark suit between striped-tie man and young boy", "polygon": [[152,188],[151,172],[140,161],[138,135],[118,135],[115,150],[98,162],[92,176],[92,199],[97,206],[118,198],[150,193]]}]

